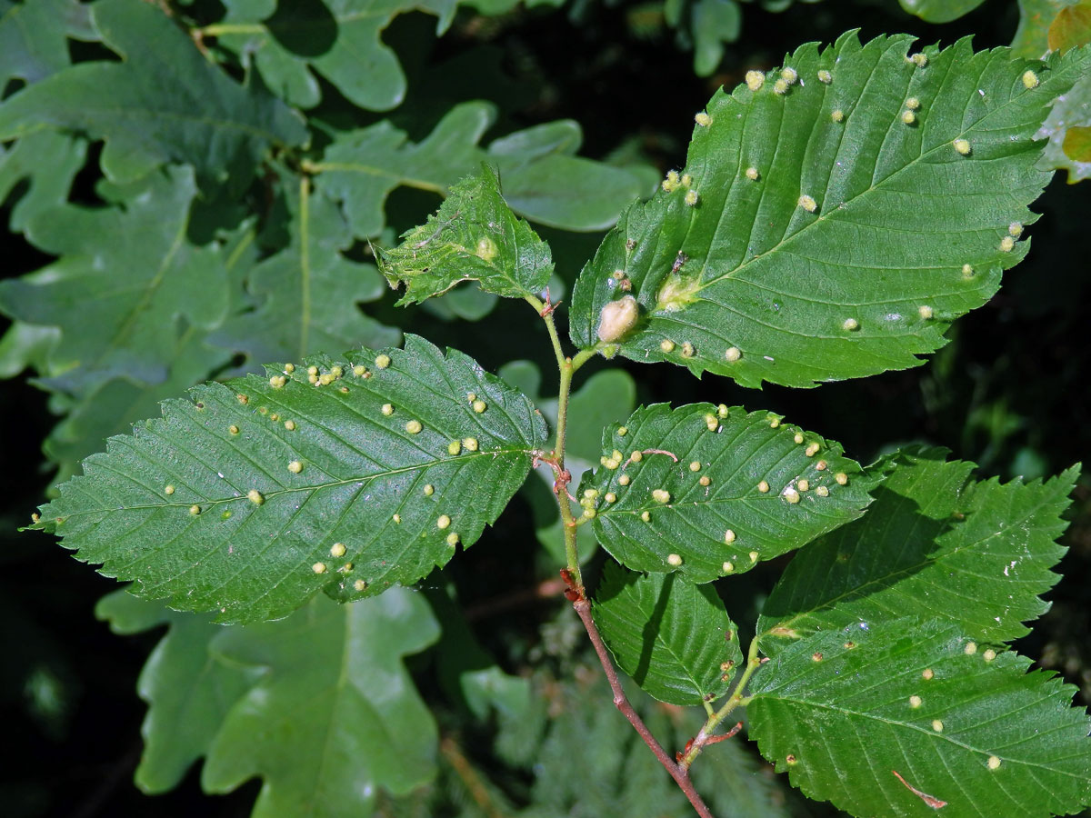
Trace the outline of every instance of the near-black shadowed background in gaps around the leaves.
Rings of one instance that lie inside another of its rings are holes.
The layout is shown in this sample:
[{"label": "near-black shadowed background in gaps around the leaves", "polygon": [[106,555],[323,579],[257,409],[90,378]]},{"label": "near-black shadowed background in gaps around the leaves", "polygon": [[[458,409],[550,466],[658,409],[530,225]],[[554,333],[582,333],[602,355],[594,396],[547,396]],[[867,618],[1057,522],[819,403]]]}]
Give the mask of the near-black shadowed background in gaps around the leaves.
[{"label": "near-black shadowed background in gaps around the leaves", "polygon": [[[199,0],[187,5],[187,12],[215,19],[215,5]],[[584,127],[583,155],[602,158],[622,148],[643,154],[666,170],[683,160],[693,113],[715,87],[739,82],[754,65],[777,64],[784,51],[803,41],[829,41],[844,28],[859,25],[864,39],[908,31],[924,43],[948,45],[958,36],[974,34],[974,45],[981,49],[1010,43],[1018,21],[1016,4],[1004,0],[988,0],[971,14],[938,26],[907,15],[887,0],[798,3],[776,14],[757,4],[746,5],[743,39],[727,47],[717,73],[702,79],[693,72],[692,56],[676,48],[672,32],[660,29],[649,37],[631,25],[633,5],[579,0],[560,11],[539,8],[501,17],[482,17],[464,9],[440,40],[432,34],[434,17],[398,17],[384,39],[406,70],[408,96],[388,116],[412,140],[419,140],[455,103],[484,98],[501,111],[493,134],[571,117]],[[70,41],[70,48],[74,59],[100,56],[94,45]],[[463,69],[440,68],[452,60]],[[2,93],[14,89],[12,85]],[[323,83],[322,91],[323,103],[311,116],[351,121],[356,127],[384,118],[352,107],[328,83]],[[89,163],[76,178],[72,201],[95,202],[97,175],[97,164]],[[955,457],[976,461],[979,478],[1056,473],[1091,453],[1091,395],[1086,386],[1091,371],[1086,329],[1091,279],[1086,263],[1076,261],[1087,257],[1088,196],[1086,185],[1068,187],[1064,178],[1054,181],[1034,205],[1043,217],[1029,230],[1033,248],[1028,260],[1006,275],[1005,286],[988,305],[950,329],[952,342],[922,368],[818,389],[766,387],[755,393],[724,378],[698,381],[669,365],[619,361],[612,365],[624,366],[637,380],[639,402],[710,400],[767,408],[841,442],[846,453],[861,462],[894,444],[922,442],[946,446]],[[16,192],[0,209],[0,222],[8,224],[17,199]],[[437,203],[431,194],[403,189],[391,197],[387,216],[400,231],[422,221]],[[552,229],[541,233],[552,242],[558,272],[571,290],[579,265],[599,237]],[[17,233],[4,232],[0,240],[5,277],[49,261]],[[385,296],[369,305],[369,313],[420,333],[441,347],[456,346],[491,371],[515,358],[533,360],[546,373],[542,392],[555,388],[547,338],[540,326],[530,324],[521,302],[501,303],[487,318],[471,323],[447,321],[420,306],[395,310],[394,300],[393,294]],[[178,790],[154,799],[132,786],[144,713],[134,685],[157,634],[111,635],[92,612],[115,584],[71,560],[53,544],[53,538],[15,533],[52,480],[40,446],[56,419],[45,393],[25,375],[0,382],[4,467],[0,474],[4,498],[0,508],[0,565],[4,567],[0,575],[0,723],[8,746],[16,751],[0,775],[5,815],[169,818],[196,810],[249,815],[256,782],[215,798],[200,792],[196,772]],[[87,450],[99,448],[97,441],[81,443]],[[1081,686],[1082,701],[1076,703],[1087,705],[1091,698],[1091,649],[1086,638],[1091,626],[1091,586],[1086,581],[1091,570],[1091,483],[1081,481],[1075,496],[1069,513],[1074,524],[1063,540],[1071,549],[1060,565],[1065,579],[1048,596],[1053,610],[1018,648]],[[508,672],[526,670],[538,661],[548,676],[594,677],[599,671],[585,658],[567,658],[558,649],[558,640],[567,643],[564,640],[574,633],[571,612],[560,598],[542,603],[516,600],[514,608],[501,609],[503,615],[496,615],[497,603],[555,577],[556,566],[537,546],[529,510],[525,495],[517,495],[496,528],[453,561],[442,577],[425,580],[425,586],[429,592],[446,582],[457,588],[473,634]],[[734,581],[738,596],[728,609],[744,630],[753,626],[760,601],[786,563],[787,557],[763,563]],[[592,563],[592,581],[599,564]],[[424,654],[411,659],[409,666],[436,712],[441,733],[456,742],[480,774],[503,791],[497,803],[526,803],[531,795],[529,769],[513,761],[509,754],[492,751],[495,731],[503,725],[470,719],[466,703],[437,681],[433,664],[437,661]],[[601,684],[596,689],[601,707],[623,727]],[[580,737],[571,741],[578,743]],[[441,779],[429,793],[412,804],[385,804],[380,814],[458,815],[451,805],[467,797],[465,782],[455,774],[449,757],[444,759]],[[796,815],[830,814],[826,805],[804,804],[787,787],[779,797]]]}]

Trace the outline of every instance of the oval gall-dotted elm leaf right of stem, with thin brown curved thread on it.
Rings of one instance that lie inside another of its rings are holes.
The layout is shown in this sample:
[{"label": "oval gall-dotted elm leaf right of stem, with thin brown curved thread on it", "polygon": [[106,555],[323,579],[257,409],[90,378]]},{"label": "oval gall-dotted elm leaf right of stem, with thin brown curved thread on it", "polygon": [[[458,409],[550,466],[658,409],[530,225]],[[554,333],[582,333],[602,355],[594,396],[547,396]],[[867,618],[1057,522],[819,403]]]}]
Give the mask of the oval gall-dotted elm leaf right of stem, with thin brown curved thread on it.
[{"label": "oval gall-dotted elm leaf right of stem, with thin brown curved thread on it", "polygon": [[602,548],[691,582],[750,570],[871,502],[839,444],[741,407],[643,407],[603,432],[602,450],[579,485]]}]

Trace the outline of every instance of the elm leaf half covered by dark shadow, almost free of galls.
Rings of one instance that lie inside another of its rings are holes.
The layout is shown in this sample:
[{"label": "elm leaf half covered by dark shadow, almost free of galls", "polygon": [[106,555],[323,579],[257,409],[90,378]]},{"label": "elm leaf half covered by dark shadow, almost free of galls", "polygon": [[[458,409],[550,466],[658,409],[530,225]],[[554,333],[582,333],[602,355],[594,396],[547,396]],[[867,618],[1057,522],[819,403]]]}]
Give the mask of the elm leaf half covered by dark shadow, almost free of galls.
[{"label": "elm leaf half covered by dark shadow, almost free of galls", "polygon": [[[792,560],[758,621],[770,655],[817,630],[927,616],[975,639],[1003,642],[1048,609],[1040,594],[1059,576],[1055,540],[1079,469],[1042,483],[975,482],[973,464],[942,449],[891,455],[860,520]],[[871,470],[871,469],[870,469]]]}]

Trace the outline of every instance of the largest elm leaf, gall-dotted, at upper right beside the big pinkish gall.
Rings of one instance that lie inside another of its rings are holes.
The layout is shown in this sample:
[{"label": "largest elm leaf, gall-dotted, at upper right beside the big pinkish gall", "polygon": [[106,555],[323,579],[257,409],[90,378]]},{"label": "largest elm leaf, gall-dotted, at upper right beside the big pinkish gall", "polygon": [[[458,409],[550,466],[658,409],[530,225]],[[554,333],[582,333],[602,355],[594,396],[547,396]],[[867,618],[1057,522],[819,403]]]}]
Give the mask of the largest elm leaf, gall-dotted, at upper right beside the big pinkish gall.
[{"label": "largest elm leaf, gall-dotted, at upper right beside the big pinkish gall", "polygon": [[943,346],[1026,254],[1050,180],[1034,133],[1091,49],[1040,64],[960,40],[914,62],[911,45],[850,33],[755,72],[757,91],[718,92],[686,167],[580,274],[573,341],[595,345],[631,292],[640,321],[607,353],[746,386],[904,369]]}]

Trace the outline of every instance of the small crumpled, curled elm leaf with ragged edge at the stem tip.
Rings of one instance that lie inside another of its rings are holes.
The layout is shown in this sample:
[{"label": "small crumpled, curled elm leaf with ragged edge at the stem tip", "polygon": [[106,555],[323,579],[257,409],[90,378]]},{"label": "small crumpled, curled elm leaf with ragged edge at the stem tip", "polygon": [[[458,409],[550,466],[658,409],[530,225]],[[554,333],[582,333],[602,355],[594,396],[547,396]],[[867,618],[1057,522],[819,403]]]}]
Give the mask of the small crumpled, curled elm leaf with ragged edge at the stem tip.
[{"label": "small crumpled, curled elm leaf with ragged edge at the stem tip", "polygon": [[377,253],[391,287],[406,285],[398,305],[440,296],[460,281],[508,298],[535,296],[553,274],[549,244],[512,213],[496,171],[487,165],[452,187],[440,210],[401,239]]}]

